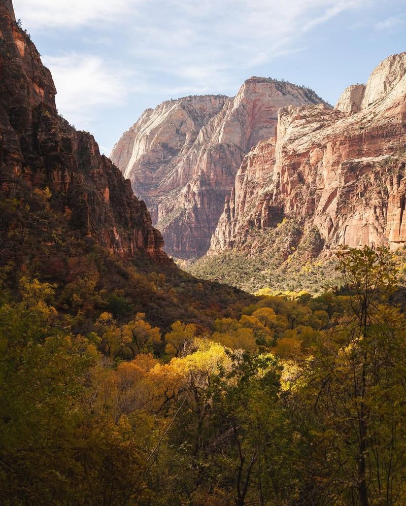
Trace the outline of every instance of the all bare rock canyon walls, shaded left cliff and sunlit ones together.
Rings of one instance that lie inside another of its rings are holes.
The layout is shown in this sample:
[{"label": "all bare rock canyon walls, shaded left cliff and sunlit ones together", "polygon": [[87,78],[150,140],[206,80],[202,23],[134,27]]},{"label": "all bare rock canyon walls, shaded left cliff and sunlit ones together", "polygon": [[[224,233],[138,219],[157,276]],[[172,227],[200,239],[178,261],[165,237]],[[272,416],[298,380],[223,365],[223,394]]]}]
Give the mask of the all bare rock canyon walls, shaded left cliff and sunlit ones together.
[{"label": "all bare rock canyon walls, shaded left cliff and sunlit ones together", "polygon": [[[58,114],[52,76],[12,3],[0,9],[4,203],[27,210],[40,195],[72,231],[122,259],[142,252],[171,264],[165,241],[179,259],[210,258],[214,274],[226,252],[272,252],[278,268],[292,257],[300,268],[344,244],[406,244],[406,53],[334,108],[260,77],[235,97],[168,100],[123,134],[111,161]],[[0,214],[2,231],[23,238],[23,220]]]}]

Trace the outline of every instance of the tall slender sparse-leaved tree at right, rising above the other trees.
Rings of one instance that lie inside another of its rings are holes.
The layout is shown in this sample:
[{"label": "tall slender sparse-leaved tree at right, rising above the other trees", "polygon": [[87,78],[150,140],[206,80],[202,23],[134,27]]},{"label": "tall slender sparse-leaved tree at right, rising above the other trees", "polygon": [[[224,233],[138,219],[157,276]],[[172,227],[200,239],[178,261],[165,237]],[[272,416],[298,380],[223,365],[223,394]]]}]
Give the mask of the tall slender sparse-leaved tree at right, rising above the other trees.
[{"label": "tall slender sparse-leaved tree at right, rising above the other trees", "polygon": [[396,271],[385,248],[343,248],[338,258],[349,305],[306,364],[326,483],[348,504],[402,504],[405,321],[388,303]]}]

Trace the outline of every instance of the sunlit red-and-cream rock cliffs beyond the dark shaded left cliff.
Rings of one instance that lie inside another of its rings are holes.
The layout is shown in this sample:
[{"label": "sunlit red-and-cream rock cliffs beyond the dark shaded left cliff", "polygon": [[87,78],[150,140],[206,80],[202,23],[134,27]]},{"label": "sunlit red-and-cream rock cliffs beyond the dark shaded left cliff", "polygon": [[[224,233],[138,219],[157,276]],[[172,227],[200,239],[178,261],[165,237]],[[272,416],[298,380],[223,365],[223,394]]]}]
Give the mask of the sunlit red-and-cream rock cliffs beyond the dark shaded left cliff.
[{"label": "sunlit red-and-cream rock cliffs beyond the dark shaded left cliff", "polygon": [[313,256],[343,244],[394,250],[406,241],[405,73],[406,53],[392,55],[334,108],[257,77],[234,98],[170,100],[145,111],[111,158],[180,259],[259,254],[286,219],[302,230],[291,248],[317,230]]}]

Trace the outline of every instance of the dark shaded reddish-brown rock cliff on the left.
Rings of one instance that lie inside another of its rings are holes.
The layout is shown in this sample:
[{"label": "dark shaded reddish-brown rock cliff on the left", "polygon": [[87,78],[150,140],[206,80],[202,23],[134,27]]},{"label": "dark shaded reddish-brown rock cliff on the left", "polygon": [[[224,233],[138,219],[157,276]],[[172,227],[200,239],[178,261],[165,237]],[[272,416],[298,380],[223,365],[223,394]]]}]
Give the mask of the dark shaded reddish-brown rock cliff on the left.
[{"label": "dark shaded reddish-brown rock cliff on the left", "polygon": [[[52,212],[73,229],[121,256],[146,251],[160,262],[160,232],[120,171],[101,156],[93,137],[57,114],[51,74],[10,1],[0,3],[0,188],[5,201],[26,203],[36,190],[52,193]],[[17,226],[1,223],[2,232]]]}]

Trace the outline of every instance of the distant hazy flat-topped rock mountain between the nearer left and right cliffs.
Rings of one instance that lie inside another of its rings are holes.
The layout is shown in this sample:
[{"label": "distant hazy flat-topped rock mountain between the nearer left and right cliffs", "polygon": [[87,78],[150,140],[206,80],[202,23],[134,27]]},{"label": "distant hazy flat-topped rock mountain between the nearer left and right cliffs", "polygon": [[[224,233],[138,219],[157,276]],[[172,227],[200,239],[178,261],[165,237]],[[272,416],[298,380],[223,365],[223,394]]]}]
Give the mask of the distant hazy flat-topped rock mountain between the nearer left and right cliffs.
[{"label": "distant hazy flat-topped rock mountain between the nearer left and right cliffs", "polygon": [[253,77],[234,98],[186,97],[148,109],[111,158],[145,199],[166,251],[201,256],[245,153],[274,136],[278,109],[320,103],[307,88]]}]

